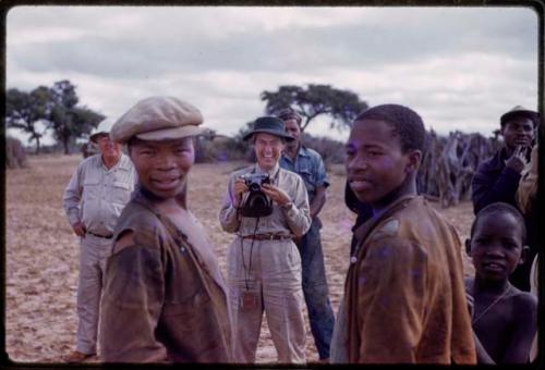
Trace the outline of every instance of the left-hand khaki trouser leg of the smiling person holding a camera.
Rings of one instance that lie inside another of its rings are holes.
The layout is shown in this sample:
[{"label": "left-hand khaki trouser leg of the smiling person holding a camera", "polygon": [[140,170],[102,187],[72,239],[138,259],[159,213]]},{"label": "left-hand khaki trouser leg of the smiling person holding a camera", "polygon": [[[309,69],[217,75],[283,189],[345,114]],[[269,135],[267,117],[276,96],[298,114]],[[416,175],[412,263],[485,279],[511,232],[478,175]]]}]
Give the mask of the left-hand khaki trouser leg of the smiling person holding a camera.
[{"label": "left-hand khaki trouser leg of the smiling person holding a camera", "polygon": [[[245,258],[245,266],[249,267],[249,257],[250,250],[244,248],[244,257],[242,257],[240,244],[234,243],[229,248],[227,259],[231,323],[233,328],[233,357],[234,361],[240,363],[255,362],[263,318],[261,282],[256,279],[255,269],[246,275],[242,263],[242,259]],[[253,257],[255,258],[255,256]],[[256,307],[243,307],[243,295],[247,292],[256,297]]]}]

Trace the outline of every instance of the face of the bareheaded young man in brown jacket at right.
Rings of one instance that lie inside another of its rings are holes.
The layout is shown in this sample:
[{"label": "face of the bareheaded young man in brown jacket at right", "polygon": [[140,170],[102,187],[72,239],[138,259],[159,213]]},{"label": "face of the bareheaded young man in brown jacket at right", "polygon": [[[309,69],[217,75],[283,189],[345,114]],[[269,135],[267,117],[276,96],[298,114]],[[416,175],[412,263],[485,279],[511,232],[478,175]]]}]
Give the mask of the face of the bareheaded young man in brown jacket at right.
[{"label": "face of the bareheaded young man in brown jacket at right", "polygon": [[347,143],[347,177],[358,199],[374,203],[401,186],[414,163],[383,121],[354,122]]}]

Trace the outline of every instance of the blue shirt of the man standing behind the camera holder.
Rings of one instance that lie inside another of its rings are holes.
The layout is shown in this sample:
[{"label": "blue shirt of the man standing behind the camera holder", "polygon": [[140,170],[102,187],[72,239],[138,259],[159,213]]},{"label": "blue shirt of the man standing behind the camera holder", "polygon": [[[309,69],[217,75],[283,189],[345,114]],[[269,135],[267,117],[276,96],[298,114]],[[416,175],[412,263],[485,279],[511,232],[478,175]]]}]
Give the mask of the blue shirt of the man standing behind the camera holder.
[{"label": "blue shirt of the man standing behind the camera holder", "polygon": [[282,153],[279,164],[282,169],[293,171],[303,177],[308,193],[310,203],[312,203],[314,199],[316,187],[329,186],[322,156],[313,149],[301,146],[295,157],[295,161],[286,153]]}]

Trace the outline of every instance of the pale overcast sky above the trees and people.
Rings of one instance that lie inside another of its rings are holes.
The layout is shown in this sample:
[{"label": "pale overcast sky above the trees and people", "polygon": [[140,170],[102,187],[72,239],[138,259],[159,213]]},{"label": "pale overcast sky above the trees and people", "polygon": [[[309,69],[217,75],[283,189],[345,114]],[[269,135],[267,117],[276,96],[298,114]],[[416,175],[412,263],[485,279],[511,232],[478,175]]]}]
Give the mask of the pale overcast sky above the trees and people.
[{"label": "pale overcast sky above the trees and people", "polygon": [[[113,120],[173,96],[232,136],[264,114],[262,91],[307,84],[408,106],[441,135],[537,110],[538,17],[523,7],[16,7],[5,30],[7,88],[70,79]],[[328,122],[307,132],[346,140]]]}]

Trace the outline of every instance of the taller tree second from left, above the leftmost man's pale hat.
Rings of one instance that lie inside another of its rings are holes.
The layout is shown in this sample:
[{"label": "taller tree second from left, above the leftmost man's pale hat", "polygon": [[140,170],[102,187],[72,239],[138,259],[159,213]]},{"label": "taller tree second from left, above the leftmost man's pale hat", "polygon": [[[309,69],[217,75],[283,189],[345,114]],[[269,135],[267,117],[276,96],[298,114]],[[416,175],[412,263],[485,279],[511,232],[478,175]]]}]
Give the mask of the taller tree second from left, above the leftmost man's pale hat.
[{"label": "taller tree second from left, above the leftmost man's pale hat", "polygon": [[89,134],[105,116],[86,107],[76,107],[80,99],[70,81],[55,83],[50,95],[50,127],[53,130],[53,137],[62,144],[64,153],[68,155],[70,144]]}]

